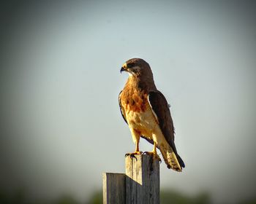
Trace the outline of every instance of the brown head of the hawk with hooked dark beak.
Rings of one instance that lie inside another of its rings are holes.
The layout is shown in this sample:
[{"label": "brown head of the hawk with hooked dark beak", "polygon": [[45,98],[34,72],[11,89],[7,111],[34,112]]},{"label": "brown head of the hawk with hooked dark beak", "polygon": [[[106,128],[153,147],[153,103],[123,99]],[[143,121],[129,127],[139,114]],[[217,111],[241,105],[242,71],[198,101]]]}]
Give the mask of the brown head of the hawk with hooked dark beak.
[{"label": "brown head of the hawk with hooked dark beak", "polygon": [[127,60],[121,67],[120,72],[122,71],[127,71],[129,76],[153,77],[151,68],[148,63],[140,58],[132,58]]}]

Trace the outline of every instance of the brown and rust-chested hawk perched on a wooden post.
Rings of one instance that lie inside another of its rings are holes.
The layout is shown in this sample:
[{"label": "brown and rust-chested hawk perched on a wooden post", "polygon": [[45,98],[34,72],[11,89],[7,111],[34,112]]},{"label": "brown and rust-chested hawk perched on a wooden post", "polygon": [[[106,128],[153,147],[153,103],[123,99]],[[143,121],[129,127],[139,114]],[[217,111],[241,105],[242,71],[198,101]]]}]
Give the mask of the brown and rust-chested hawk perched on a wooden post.
[{"label": "brown and rust-chested hawk perched on a wooden post", "polygon": [[154,144],[153,155],[160,160],[157,148],[162,153],[167,168],[181,171],[185,167],[174,144],[173,119],[165,96],[154,85],[153,74],[145,60],[132,58],[121,67],[129,78],[118,96],[121,114],[129,125],[135,152],[130,156],[143,154],[139,149],[140,137]]}]

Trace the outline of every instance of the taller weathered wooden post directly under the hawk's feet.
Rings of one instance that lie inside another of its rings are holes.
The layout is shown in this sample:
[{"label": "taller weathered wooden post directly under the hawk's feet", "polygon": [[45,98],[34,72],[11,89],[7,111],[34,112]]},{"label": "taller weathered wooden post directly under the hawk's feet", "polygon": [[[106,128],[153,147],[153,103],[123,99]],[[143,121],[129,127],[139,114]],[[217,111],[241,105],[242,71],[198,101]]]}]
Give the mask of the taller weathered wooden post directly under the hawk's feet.
[{"label": "taller weathered wooden post directly under the hawk's feet", "polygon": [[126,157],[126,204],[159,204],[159,161],[148,154]]}]

